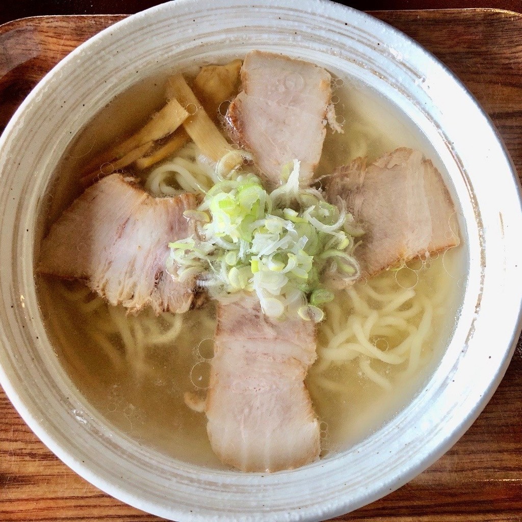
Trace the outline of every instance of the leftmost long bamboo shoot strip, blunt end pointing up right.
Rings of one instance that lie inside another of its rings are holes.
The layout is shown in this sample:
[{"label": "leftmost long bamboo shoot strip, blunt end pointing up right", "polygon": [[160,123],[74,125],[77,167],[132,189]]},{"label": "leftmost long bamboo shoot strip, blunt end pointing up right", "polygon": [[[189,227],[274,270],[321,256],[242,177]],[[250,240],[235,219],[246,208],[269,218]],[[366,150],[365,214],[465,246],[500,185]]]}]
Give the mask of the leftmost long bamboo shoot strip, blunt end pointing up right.
[{"label": "leftmost long bamboo shoot strip, blunt end pointing up right", "polygon": [[[180,105],[177,100],[171,99],[163,109],[155,113],[150,121],[145,124],[136,134],[123,141],[100,156],[89,162],[85,172],[90,177],[92,172],[99,172],[101,165],[119,160],[134,149],[137,149],[149,141],[156,141],[172,134],[188,117],[188,112]],[[139,156],[138,156],[139,157]],[[110,172],[109,172],[110,174]],[[85,183],[84,183],[85,184]]]}]

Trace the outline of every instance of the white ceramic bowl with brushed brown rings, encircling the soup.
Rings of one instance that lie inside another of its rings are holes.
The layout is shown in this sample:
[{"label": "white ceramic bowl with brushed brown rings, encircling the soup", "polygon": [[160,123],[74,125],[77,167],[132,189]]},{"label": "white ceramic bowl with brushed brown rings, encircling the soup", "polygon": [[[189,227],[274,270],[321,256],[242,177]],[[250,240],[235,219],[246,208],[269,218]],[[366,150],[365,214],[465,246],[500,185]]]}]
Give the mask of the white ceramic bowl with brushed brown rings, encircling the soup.
[{"label": "white ceramic bowl with brushed brown rings, encircling the soup", "polygon": [[[92,115],[168,63],[183,67],[251,49],[345,72],[392,100],[430,139],[449,173],[467,248],[458,324],[423,392],[348,452],[265,475],[198,468],[113,431],[58,363],[33,278],[42,195],[70,140]],[[445,67],[398,31],[350,8],[319,0],[177,0],[123,20],[81,45],[31,92],[2,136],[0,168],[2,386],[68,466],[145,511],[183,522],[280,522],[358,508],[400,487],[452,446],[493,394],[511,357],[519,333],[522,213],[506,151],[488,117]]]}]

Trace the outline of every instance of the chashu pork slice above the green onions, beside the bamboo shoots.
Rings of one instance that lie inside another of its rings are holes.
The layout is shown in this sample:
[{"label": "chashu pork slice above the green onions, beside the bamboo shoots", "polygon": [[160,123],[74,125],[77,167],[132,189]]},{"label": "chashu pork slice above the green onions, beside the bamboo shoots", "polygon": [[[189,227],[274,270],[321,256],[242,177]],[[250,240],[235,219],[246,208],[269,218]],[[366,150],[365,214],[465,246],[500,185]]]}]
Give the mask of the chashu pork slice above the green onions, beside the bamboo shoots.
[{"label": "chashu pork slice above the green onions, beside the bamboo shoots", "polygon": [[330,80],[311,63],[262,51],[245,56],[242,91],[230,104],[227,122],[272,188],[294,159],[301,161],[301,183],[312,180],[326,135]]}]

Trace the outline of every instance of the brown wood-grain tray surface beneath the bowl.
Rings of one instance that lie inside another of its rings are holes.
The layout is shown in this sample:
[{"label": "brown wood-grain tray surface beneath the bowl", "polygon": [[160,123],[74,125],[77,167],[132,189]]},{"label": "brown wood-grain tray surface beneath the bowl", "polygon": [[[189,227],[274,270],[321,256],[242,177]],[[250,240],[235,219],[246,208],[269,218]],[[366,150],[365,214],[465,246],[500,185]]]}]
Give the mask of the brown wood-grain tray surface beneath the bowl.
[{"label": "brown wood-grain tray surface beneath the bowl", "polygon": [[[492,9],[373,14],[419,41],[464,81],[522,173],[522,16]],[[28,18],[0,27],[0,128],[53,65],[121,18]],[[335,520],[521,521],[521,376],[519,341],[492,400],[446,455],[396,492]],[[68,469],[29,430],[3,392],[0,419],[0,522],[161,520],[102,493]]]}]

